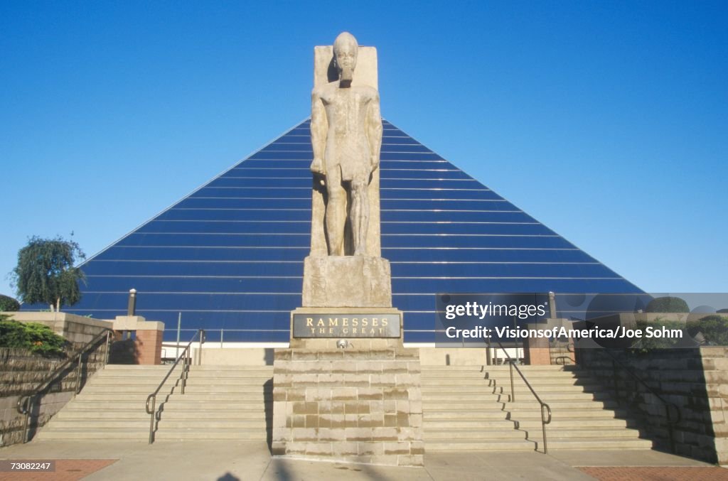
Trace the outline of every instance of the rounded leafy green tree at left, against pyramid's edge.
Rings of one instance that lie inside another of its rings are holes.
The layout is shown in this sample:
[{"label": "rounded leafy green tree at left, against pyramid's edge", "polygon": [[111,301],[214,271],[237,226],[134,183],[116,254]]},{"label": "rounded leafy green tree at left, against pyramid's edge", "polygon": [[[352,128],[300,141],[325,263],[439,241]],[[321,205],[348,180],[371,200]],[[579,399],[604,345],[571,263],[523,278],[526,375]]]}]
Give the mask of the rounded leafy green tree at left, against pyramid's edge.
[{"label": "rounded leafy green tree at left, against pyramid's edge", "polygon": [[74,266],[76,258],[86,255],[74,241],[58,236],[41,239],[33,236],[17,253],[17,267],[12,271],[18,297],[29,304],[46,303],[50,310],[61,305],[73,306],[81,300],[79,281],[84,273]]}]

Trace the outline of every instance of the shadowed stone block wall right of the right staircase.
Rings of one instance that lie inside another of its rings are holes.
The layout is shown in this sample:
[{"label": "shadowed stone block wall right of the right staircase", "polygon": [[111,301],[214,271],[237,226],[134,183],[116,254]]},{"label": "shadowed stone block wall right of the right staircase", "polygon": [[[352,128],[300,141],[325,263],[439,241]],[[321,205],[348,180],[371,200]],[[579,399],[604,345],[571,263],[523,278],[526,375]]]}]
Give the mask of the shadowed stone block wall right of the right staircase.
[{"label": "shadowed stone block wall right of the right staircase", "polygon": [[[622,405],[641,422],[641,434],[657,448],[670,450],[665,407],[624,370],[614,370],[601,349],[579,349],[577,361],[590,375],[614,389]],[[681,421],[673,432],[676,453],[728,464],[728,349],[665,349],[649,353],[612,349],[665,401],[678,406]]]}]

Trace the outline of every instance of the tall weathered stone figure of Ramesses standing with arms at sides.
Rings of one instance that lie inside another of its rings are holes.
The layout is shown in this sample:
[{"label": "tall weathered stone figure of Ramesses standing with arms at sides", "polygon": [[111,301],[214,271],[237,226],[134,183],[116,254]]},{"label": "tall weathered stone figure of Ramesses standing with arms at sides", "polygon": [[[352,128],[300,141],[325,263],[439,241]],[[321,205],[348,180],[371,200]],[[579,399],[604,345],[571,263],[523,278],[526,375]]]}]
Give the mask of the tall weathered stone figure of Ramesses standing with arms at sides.
[{"label": "tall weathered stone figure of Ramesses standing with arms at sides", "polygon": [[326,187],[328,255],[351,254],[345,250],[347,224],[353,255],[367,255],[368,187],[379,167],[382,126],[379,92],[352,84],[358,49],[351,33],[339,34],[333,43],[339,79],[314,88],[311,95],[311,170],[323,176]]}]

